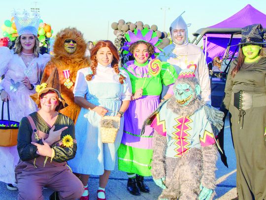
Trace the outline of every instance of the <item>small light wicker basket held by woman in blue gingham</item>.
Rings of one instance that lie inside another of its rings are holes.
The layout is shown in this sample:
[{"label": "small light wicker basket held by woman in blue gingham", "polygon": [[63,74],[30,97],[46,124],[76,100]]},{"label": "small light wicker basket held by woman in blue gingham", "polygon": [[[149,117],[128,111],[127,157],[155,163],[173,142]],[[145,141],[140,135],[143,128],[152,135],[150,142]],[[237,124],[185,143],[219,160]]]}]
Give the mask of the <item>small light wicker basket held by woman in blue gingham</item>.
[{"label": "small light wicker basket held by woman in blue gingham", "polygon": [[101,120],[111,119],[115,128],[105,128],[100,127],[100,135],[102,143],[114,143],[116,139],[117,132],[120,127],[120,117],[119,116],[103,116]]}]

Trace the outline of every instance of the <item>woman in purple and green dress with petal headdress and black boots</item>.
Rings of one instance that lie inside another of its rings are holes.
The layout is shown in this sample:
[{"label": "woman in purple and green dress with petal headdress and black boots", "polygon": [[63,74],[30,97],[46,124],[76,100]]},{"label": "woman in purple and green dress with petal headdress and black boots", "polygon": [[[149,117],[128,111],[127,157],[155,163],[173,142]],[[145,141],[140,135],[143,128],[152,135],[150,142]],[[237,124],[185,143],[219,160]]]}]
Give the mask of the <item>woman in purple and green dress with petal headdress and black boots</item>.
[{"label": "woman in purple and green dress with petal headdress and black boots", "polygon": [[144,176],[151,175],[153,128],[146,126],[144,134],[140,135],[142,124],[158,107],[162,84],[170,85],[176,79],[175,69],[168,63],[162,63],[162,70],[157,76],[149,74],[148,58],[159,51],[154,45],[158,39],[156,42],[151,41],[152,37],[142,37],[136,41],[132,39],[128,43],[129,52],[135,59],[123,66],[130,76],[133,95],[125,113],[124,133],[118,149],[118,168],[128,173],[127,190],[136,196],[140,195],[140,191],[149,193]]}]

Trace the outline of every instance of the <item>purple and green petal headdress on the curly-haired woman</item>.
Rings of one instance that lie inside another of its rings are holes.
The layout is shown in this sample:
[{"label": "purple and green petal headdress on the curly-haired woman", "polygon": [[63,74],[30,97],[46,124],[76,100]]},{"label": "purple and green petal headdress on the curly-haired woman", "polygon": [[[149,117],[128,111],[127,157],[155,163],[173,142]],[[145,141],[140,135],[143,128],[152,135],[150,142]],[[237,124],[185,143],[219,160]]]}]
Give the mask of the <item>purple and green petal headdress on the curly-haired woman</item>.
[{"label": "purple and green petal headdress on the curly-haired woman", "polygon": [[149,30],[147,28],[145,28],[143,30],[134,29],[134,32],[129,31],[128,33],[126,33],[125,37],[127,39],[127,42],[125,42],[122,49],[125,50],[123,53],[126,54],[127,56],[132,55],[129,51],[129,47],[130,47],[130,45],[132,45],[133,43],[135,43],[137,41],[148,42],[154,46],[154,54],[151,55],[151,58],[155,58],[155,55],[162,52],[162,49],[157,47],[162,42],[162,40],[157,37],[156,32],[153,32],[153,30]]}]

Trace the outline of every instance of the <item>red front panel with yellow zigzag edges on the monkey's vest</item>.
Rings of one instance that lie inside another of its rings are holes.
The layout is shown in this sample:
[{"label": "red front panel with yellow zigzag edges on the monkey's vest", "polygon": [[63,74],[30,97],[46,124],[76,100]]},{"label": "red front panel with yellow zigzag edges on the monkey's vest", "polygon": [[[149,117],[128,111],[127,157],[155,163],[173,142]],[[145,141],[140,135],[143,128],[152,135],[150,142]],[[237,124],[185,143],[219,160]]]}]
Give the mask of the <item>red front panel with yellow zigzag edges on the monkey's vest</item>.
[{"label": "red front panel with yellow zigzag edges on the monkey's vest", "polygon": [[[182,123],[180,122],[181,121],[180,119],[182,120]],[[188,119],[188,121],[184,123],[184,120],[186,119]],[[179,154],[175,155],[175,157],[181,157],[183,155],[184,149],[189,149],[188,146],[191,144],[187,141],[188,137],[190,137],[188,131],[192,129],[188,124],[193,122],[193,120],[190,119],[189,117],[182,117],[182,116],[177,117],[174,120],[177,122],[177,125],[173,126],[173,128],[176,129],[176,131],[172,133],[172,135],[174,135],[174,139],[176,140],[174,144],[177,146],[174,150]],[[178,132],[181,132],[180,137],[177,136]],[[180,138],[184,139],[180,140]],[[181,151],[179,150],[180,148]]]}]

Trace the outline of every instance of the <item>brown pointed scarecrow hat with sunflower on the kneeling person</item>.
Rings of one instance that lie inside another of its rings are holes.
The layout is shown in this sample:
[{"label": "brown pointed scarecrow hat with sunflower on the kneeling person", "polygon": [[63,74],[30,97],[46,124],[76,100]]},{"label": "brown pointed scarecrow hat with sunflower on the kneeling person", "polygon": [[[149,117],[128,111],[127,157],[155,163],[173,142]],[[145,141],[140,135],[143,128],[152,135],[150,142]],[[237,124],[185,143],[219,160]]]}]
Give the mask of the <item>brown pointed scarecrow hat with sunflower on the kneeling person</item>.
[{"label": "brown pointed scarecrow hat with sunflower on the kneeling person", "polygon": [[36,86],[35,88],[36,93],[31,95],[31,98],[33,101],[39,105],[40,104],[40,96],[42,93],[46,93],[49,90],[54,91],[58,95],[58,99],[60,101],[59,105],[56,108],[56,111],[59,111],[63,108],[66,108],[67,103],[65,99],[62,97],[61,94],[61,86],[59,82],[59,73],[58,69],[55,67],[52,73],[50,74],[49,78],[45,83],[42,83],[41,85]]}]

